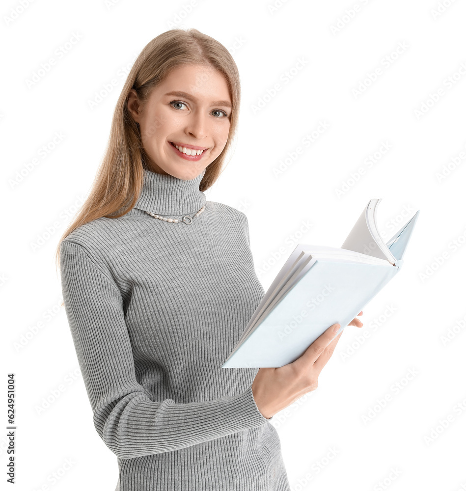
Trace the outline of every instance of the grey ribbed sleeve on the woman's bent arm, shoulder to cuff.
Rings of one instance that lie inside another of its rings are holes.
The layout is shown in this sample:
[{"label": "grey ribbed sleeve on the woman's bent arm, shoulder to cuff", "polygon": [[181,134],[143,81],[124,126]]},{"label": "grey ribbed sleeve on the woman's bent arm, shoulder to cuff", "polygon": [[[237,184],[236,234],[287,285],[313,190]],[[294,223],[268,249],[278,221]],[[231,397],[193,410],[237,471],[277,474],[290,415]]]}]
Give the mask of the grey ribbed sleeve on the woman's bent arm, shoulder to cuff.
[{"label": "grey ribbed sleeve on the woman's bent arm, shoulder to cuff", "polygon": [[[60,244],[65,311],[94,426],[122,459],[158,454],[259,427],[267,421],[251,387],[206,402],[151,400],[138,383],[123,299],[105,261],[81,244]],[[152,398],[153,399],[153,398]]]}]

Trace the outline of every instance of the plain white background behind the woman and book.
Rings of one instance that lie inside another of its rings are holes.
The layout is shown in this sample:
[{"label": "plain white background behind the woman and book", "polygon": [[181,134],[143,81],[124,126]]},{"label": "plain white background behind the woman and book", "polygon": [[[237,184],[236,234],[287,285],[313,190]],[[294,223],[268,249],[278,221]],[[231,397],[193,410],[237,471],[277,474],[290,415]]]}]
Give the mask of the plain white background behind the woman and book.
[{"label": "plain white background behind the woman and book", "polygon": [[[364,327],[345,329],[318,389],[274,418],[292,489],[466,489],[466,5],[443,3],[2,2],[0,426],[15,372],[15,489],[115,488],[116,457],[92,424],[54,254],[100,164],[124,70],[177,26],[219,40],[238,65],[236,150],[206,197],[247,214],[266,289],[298,242],[341,246],[371,198],[383,198],[388,237],[421,210],[403,269],[363,309]],[[304,147],[320,122],[327,128]],[[44,145],[55,148],[42,158]]]}]

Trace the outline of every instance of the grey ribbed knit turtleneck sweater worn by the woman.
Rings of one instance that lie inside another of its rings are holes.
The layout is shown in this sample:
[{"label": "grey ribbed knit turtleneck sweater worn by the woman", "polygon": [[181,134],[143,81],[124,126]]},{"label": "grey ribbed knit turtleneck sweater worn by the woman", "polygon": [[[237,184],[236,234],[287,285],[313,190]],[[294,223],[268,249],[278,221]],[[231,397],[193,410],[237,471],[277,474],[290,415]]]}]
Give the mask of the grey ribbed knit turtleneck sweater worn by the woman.
[{"label": "grey ribbed knit turtleneck sweater worn by the woman", "polygon": [[[246,215],[206,201],[205,170],[144,170],[137,203],[60,244],[63,300],[115,491],[290,490],[257,408],[258,368],[221,368],[264,295]],[[193,216],[192,223],[167,218]]]}]

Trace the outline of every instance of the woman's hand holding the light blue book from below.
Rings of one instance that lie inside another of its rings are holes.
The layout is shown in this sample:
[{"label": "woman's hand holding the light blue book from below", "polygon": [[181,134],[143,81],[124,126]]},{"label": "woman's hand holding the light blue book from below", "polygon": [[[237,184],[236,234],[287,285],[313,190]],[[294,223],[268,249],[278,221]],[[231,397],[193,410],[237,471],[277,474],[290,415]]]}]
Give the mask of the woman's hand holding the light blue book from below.
[{"label": "woman's hand holding the light blue book from below", "polygon": [[277,368],[259,368],[252,382],[252,396],[265,418],[270,419],[278,411],[317,388],[317,378],[343,332],[335,336],[339,328],[339,324],[330,326],[292,363]]}]

